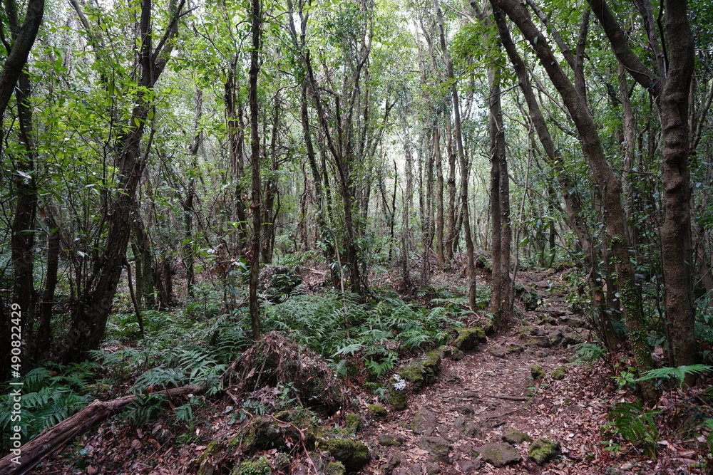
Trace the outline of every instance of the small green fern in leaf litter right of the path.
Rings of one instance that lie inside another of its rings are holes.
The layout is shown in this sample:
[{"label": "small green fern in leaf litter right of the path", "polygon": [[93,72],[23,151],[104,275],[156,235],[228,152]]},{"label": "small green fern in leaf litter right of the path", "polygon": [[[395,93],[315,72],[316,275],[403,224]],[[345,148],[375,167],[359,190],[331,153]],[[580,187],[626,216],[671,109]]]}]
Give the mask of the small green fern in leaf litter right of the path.
[{"label": "small green fern in leaf litter right of the path", "polygon": [[619,402],[612,407],[605,424],[605,431],[610,430],[622,439],[642,447],[647,456],[656,455],[659,432],[654,418],[660,411],[644,409],[642,402]]}]

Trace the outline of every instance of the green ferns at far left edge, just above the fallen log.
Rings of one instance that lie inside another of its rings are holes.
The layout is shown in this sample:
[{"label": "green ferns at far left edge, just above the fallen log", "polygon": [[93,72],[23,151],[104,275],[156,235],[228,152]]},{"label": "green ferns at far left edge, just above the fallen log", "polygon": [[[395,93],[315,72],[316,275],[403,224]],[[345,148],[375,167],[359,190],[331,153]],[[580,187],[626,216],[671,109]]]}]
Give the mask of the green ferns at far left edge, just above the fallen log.
[{"label": "green ferns at far left edge, just above the fallen log", "polygon": [[[21,425],[25,439],[23,443],[34,439],[43,429],[52,427],[75,412],[83,409],[92,397],[87,394],[88,382],[94,377],[96,364],[81,362],[61,368],[62,375],[53,373],[46,367],[30,370],[22,382],[20,421],[13,419],[11,402],[1,397],[0,433],[9,434],[10,427]],[[2,392],[8,393],[7,388]],[[18,414],[15,414],[18,415]],[[8,450],[8,439],[3,437],[1,447]]]}]

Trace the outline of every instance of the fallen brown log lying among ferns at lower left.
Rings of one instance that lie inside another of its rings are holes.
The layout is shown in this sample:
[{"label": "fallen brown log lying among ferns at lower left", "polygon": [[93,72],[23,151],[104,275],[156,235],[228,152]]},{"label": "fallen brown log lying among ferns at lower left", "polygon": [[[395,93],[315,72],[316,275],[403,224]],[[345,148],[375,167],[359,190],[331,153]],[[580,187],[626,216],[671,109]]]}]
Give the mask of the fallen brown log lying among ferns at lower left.
[{"label": "fallen brown log lying among ferns at lower left", "polygon": [[[151,392],[151,395],[166,395],[168,397],[182,396],[188,394],[198,394],[203,392],[205,387],[201,385],[190,385],[175,387],[170,390]],[[0,475],[24,475],[33,469],[41,461],[63,447],[78,434],[82,434],[90,429],[94,424],[113,416],[124,409],[132,402],[136,402],[135,395],[118,397],[111,401],[96,400],[81,411],[64,419],[59,424],[43,432],[30,442],[27,442],[15,453],[4,456],[0,459]]]}]

